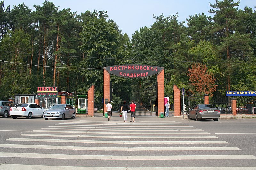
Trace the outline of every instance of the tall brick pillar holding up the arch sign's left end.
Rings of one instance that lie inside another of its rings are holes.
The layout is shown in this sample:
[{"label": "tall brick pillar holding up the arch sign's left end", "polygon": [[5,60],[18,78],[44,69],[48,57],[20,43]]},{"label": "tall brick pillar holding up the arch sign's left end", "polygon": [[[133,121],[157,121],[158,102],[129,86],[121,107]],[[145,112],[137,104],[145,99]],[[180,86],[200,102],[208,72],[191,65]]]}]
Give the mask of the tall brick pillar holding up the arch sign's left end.
[{"label": "tall brick pillar holding up the arch sign's left end", "polygon": [[107,108],[106,105],[108,104],[105,103],[106,100],[110,100],[110,74],[108,73],[108,71],[106,69],[103,69],[103,76],[104,76],[104,80],[103,80],[103,111],[104,113],[107,112]]}]

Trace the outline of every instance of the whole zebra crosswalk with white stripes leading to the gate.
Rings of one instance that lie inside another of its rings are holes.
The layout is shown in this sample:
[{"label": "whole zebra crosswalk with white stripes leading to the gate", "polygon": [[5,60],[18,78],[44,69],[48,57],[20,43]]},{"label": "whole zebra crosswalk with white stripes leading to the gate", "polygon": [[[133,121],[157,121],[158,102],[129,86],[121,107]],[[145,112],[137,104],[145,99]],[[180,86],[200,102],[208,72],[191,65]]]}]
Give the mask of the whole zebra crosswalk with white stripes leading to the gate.
[{"label": "whole zebra crosswalk with white stripes leading to the gate", "polygon": [[256,159],[203,129],[176,121],[72,120],[23,131],[1,142],[0,150],[1,170],[238,170]]}]

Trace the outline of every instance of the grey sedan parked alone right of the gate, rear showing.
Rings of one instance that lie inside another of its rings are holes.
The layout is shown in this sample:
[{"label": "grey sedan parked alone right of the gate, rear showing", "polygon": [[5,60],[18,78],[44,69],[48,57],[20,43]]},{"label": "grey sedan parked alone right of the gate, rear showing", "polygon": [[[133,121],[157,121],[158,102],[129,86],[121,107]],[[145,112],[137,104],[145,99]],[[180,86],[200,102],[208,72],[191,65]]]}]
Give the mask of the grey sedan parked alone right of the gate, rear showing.
[{"label": "grey sedan parked alone right of the gate, rear showing", "polygon": [[213,119],[214,121],[218,121],[219,118],[220,110],[213,105],[198,104],[188,111],[188,119],[196,119],[196,121],[200,121],[200,119]]}]

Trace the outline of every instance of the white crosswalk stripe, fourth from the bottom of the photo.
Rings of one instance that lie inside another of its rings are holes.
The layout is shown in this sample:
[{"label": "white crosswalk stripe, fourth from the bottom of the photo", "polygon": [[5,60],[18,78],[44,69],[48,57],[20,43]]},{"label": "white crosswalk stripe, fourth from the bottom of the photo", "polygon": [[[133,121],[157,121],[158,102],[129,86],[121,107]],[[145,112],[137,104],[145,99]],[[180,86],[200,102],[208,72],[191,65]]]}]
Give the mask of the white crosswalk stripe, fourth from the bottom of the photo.
[{"label": "white crosswalk stripe, fourth from the bottom of the photo", "polygon": [[[105,140],[71,140],[71,139],[31,139],[9,138],[7,141],[33,141],[33,142],[72,142],[72,143],[98,143],[106,144]],[[109,141],[108,144],[229,144],[226,141]]]}]

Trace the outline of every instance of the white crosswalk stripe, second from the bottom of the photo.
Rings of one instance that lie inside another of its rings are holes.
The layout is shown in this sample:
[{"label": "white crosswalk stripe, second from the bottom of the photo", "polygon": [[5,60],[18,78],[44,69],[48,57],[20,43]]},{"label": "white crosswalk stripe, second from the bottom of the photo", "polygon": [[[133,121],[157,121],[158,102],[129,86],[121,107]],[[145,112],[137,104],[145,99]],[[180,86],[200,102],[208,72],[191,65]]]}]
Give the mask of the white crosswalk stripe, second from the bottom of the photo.
[{"label": "white crosswalk stripe, second from the bottom of the photo", "polygon": [[46,159],[90,159],[90,160],[228,160],[256,159],[254,155],[66,155],[44,153],[0,152],[0,157],[46,158]]}]

